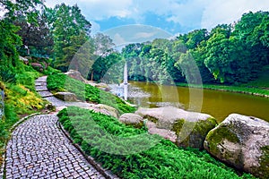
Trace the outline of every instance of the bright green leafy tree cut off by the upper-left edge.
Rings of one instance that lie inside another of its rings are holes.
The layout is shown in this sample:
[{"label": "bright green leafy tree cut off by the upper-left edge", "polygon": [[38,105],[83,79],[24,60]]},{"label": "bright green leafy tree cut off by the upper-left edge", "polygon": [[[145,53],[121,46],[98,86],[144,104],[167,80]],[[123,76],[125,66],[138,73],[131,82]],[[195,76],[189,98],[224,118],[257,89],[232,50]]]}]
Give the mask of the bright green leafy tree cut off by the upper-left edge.
[{"label": "bright green leafy tree cut off by the upper-left edge", "polygon": [[12,21],[18,15],[24,15],[27,21],[33,21],[35,18],[35,8],[42,5],[39,0],[4,0],[0,1],[3,10],[4,19],[0,20],[0,65],[12,69],[19,64],[19,54],[16,47],[22,45],[22,38],[17,35],[20,30]]}]

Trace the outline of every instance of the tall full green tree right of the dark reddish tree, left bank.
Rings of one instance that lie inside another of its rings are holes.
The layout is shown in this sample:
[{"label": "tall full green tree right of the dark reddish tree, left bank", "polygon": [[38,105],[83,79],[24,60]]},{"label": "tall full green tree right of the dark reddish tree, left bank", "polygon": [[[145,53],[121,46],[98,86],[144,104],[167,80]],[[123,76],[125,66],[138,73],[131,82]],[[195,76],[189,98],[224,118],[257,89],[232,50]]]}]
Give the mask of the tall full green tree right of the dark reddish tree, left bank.
[{"label": "tall full green tree right of the dark reddish tree, left bank", "polygon": [[85,19],[76,4],[56,5],[54,10],[49,12],[52,13],[49,16],[52,20],[53,15],[56,15],[52,24],[55,43],[53,49],[56,56],[54,65],[62,72],[66,72],[77,50],[89,39],[91,23]]}]

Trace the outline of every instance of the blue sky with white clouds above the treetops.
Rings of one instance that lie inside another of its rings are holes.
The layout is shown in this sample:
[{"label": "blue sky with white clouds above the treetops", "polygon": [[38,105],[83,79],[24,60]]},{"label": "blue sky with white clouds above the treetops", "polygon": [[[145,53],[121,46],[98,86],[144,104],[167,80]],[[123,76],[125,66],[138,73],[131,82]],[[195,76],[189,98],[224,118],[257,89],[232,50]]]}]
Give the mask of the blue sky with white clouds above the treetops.
[{"label": "blue sky with white clouds above the treetops", "polygon": [[46,4],[78,4],[91,21],[91,32],[142,24],[169,34],[187,33],[238,21],[249,11],[269,11],[268,0],[47,0]]}]

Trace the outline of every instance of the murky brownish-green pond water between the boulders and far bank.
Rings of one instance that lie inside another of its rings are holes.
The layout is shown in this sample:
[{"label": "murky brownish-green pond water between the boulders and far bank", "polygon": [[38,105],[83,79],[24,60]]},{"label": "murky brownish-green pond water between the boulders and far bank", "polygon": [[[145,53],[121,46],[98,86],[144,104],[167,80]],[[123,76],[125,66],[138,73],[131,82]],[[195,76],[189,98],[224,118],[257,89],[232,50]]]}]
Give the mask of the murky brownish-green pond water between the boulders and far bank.
[{"label": "murky brownish-green pond water between the boulders and far bank", "polygon": [[189,111],[213,115],[218,122],[228,115],[237,113],[251,115],[269,122],[269,99],[251,95],[217,91],[182,88],[175,86],[158,86],[154,83],[131,81],[133,93],[141,89],[146,95],[131,98],[140,107],[174,106]]}]

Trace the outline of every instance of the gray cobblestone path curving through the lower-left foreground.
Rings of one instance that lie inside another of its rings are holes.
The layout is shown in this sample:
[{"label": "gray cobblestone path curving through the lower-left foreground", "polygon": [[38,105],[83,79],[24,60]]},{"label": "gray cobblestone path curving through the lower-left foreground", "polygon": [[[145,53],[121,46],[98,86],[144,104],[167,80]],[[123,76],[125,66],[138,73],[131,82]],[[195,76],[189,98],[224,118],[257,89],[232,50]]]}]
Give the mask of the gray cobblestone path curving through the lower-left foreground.
[{"label": "gray cobblestone path curving through the lower-left foreground", "polygon": [[56,115],[20,124],[8,142],[6,178],[104,178],[65,138]]}]

